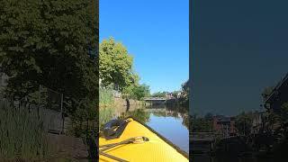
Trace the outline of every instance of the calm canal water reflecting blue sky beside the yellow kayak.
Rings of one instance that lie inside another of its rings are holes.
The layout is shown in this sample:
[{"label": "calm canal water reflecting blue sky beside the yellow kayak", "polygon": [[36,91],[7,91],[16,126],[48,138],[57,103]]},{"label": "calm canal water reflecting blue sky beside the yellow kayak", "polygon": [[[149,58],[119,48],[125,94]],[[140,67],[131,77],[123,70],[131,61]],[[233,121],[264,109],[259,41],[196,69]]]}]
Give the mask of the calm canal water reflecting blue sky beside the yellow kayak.
[{"label": "calm canal water reflecting blue sky beside the yellow kayak", "polygon": [[[123,110],[123,109],[119,109]],[[178,148],[189,152],[189,130],[187,109],[174,106],[149,106],[130,108],[118,112],[121,117],[132,116],[146,123],[150,128],[156,130],[160,135],[170,140]]]}]

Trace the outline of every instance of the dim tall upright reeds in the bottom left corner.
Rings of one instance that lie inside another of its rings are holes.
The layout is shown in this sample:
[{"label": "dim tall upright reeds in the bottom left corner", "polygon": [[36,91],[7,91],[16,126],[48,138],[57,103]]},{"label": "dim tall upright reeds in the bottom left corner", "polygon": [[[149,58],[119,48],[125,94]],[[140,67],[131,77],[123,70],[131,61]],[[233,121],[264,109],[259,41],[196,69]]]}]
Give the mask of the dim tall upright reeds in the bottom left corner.
[{"label": "dim tall upright reeds in the bottom left corner", "polygon": [[37,111],[0,101],[0,158],[40,159],[49,155],[47,131]]}]

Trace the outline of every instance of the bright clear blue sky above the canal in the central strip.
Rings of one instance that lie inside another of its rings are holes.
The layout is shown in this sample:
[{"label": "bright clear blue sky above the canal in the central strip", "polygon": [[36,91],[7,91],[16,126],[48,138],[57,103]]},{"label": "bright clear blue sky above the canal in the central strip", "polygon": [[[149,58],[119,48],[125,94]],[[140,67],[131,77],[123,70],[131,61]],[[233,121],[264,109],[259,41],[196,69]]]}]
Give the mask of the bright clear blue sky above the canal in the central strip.
[{"label": "bright clear blue sky above the canal in the central strip", "polygon": [[188,0],[100,0],[100,41],[121,41],[151,93],[174,91],[189,77]]}]

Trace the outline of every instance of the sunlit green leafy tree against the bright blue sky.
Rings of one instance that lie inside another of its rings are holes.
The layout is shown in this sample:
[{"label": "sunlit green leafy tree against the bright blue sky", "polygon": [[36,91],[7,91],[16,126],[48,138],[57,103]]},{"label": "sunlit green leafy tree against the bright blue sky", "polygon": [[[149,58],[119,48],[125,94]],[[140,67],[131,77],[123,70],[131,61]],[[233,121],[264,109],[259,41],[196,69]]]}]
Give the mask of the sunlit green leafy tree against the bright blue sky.
[{"label": "sunlit green leafy tree against the bright blue sky", "polygon": [[99,54],[99,75],[103,86],[116,84],[122,90],[138,82],[138,76],[132,72],[133,58],[121,42],[115,42],[112,38],[103,40]]}]

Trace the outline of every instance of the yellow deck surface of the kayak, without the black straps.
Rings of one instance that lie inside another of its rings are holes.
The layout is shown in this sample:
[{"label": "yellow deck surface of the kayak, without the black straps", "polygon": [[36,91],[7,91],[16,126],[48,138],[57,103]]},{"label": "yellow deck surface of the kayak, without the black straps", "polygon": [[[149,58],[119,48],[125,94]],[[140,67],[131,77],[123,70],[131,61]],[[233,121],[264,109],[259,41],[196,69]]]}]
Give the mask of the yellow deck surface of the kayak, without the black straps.
[{"label": "yellow deck surface of the kayak, without the black straps", "polygon": [[[169,145],[164,139],[159,138],[156,133],[149,130],[146,126],[132,118],[129,118],[129,120],[130,122],[119,139],[107,140],[100,137],[99,145],[117,143],[135,137],[146,137],[148,138],[148,141],[138,144],[123,144],[105,150],[105,153],[112,155],[113,157],[120,157],[127,161],[189,161],[188,158],[179,153],[176,148]],[[100,155],[99,161],[111,162],[116,160]]]}]

